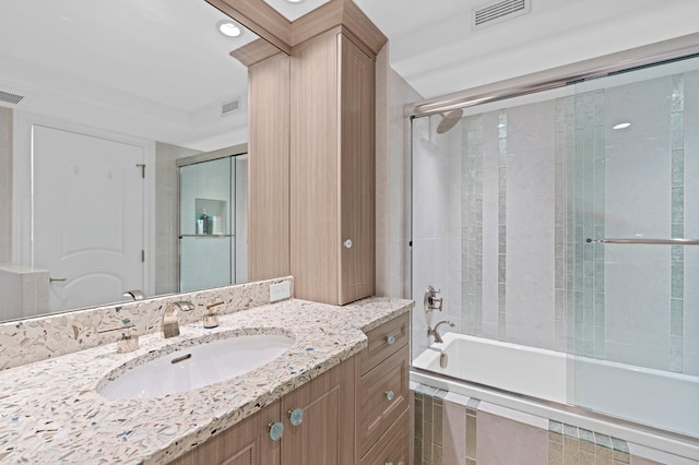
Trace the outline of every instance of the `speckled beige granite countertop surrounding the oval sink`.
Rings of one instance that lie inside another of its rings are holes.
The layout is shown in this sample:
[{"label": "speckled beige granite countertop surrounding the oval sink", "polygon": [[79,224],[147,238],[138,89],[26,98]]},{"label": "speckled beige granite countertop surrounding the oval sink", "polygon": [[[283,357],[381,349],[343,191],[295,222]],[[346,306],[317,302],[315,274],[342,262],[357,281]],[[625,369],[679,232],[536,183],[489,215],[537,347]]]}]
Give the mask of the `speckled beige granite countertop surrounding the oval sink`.
[{"label": "speckled beige granite countertop surrounding the oval sink", "polygon": [[[214,430],[247,418],[308,380],[360,351],[365,332],[410,311],[413,302],[368,298],[344,307],[291,299],[180,325],[181,334],[140,337],[138,350],[118,354],[115,344],[85,349],[0,372],[0,462],[167,463]],[[293,333],[283,356],[246,374],[157,398],[111,400],[96,388],[128,367],[187,341],[213,341],[221,333]]]}]

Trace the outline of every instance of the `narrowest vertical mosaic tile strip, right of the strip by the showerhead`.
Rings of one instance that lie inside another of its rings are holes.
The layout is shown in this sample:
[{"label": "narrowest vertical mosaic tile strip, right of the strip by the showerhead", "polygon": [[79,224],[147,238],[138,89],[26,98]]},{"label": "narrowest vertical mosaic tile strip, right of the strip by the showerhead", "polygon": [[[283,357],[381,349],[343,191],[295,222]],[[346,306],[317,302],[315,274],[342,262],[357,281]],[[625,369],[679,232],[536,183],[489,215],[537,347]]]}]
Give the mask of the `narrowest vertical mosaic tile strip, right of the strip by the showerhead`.
[{"label": "narrowest vertical mosaic tile strip, right of the strip by the showerhead", "polygon": [[507,111],[498,114],[498,339],[507,339]]}]

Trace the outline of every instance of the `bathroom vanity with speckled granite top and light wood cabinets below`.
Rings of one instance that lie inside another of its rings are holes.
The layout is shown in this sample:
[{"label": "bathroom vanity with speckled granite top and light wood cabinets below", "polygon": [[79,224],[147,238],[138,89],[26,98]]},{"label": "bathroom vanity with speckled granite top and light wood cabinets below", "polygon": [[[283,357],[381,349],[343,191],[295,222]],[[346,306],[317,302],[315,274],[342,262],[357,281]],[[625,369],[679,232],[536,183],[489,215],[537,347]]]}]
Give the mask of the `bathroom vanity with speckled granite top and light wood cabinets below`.
[{"label": "bathroom vanity with speckled granite top and light wood cabinets below", "polygon": [[[107,344],[0,371],[0,461],[407,463],[412,305],[289,299],[222,312],[213,330],[199,320],[168,339],[142,335],[128,354]],[[153,398],[97,392],[131,365],[192,341],[274,331],[292,334],[295,343],[228,381]]]}]

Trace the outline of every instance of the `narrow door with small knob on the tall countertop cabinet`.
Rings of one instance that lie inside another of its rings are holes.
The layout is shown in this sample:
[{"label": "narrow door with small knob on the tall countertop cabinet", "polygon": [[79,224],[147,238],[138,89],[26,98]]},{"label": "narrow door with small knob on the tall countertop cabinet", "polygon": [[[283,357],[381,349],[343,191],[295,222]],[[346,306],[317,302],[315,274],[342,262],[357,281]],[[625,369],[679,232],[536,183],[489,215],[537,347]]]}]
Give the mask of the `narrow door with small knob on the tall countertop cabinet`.
[{"label": "narrow door with small knob on the tall countertop cabinet", "polygon": [[[374,59],[344,35],[340,93],[340,305],[374,295]],[[347,242],[347,240],[352,242]]]}]

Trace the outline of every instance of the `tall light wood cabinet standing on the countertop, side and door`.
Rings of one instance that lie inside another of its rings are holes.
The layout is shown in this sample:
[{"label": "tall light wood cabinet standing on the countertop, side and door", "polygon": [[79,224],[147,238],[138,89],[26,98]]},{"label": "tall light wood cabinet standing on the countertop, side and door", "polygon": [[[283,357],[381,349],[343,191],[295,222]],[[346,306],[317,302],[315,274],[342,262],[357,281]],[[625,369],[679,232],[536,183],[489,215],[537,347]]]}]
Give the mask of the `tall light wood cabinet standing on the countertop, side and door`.
[{"label": "tall light wood cabinet standing on the countertop, side and door", "polygon": [[297,298],[345,305],[375,290],[375,65],[335,27],[294,47],[291,272]]}]

